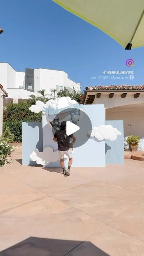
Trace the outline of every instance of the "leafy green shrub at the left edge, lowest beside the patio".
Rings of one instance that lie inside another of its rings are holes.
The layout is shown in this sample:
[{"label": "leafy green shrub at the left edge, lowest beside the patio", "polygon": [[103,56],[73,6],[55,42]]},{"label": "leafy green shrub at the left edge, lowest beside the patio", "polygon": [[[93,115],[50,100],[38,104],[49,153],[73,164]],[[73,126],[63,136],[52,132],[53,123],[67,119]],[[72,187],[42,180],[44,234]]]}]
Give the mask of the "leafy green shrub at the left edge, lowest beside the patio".
[{"label": "leafy green shrub at the left edge, lowest beside the patio", "polygon": [[0,136],[0,166],[6,163],[7,156],[10,154],[12,146],[8,144],[3,136]]}]

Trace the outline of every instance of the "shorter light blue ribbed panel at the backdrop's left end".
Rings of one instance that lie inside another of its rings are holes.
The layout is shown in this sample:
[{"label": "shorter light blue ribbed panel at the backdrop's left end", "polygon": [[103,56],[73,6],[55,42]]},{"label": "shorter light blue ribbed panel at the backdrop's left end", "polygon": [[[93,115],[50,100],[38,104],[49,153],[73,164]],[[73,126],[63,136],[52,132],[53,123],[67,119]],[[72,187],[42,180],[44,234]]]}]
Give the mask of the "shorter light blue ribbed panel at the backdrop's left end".
[{"label": "shorter light blue ribbed panel at the backdrop's left end", "polygon": [[37,165],[30,160],[35,148],[42,152],[42,122],[22,122],[22,165]]}]

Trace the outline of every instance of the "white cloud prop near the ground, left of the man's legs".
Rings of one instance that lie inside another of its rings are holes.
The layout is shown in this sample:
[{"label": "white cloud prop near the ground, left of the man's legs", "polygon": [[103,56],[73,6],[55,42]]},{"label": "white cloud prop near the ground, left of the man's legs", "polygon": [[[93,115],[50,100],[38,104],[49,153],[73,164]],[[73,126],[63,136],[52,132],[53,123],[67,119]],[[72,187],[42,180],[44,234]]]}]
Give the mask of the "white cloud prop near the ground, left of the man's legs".
[{"label": "white cloud prop near the ground, left of the man's legs", "polygon": [[44,148],[43,152],[40,152],[37,148],[30,154],[30,160],[36,161],[37,164],[47,165],[50,162],[54,163],[59,159],[58,150],[53,151],[51,147]]}]

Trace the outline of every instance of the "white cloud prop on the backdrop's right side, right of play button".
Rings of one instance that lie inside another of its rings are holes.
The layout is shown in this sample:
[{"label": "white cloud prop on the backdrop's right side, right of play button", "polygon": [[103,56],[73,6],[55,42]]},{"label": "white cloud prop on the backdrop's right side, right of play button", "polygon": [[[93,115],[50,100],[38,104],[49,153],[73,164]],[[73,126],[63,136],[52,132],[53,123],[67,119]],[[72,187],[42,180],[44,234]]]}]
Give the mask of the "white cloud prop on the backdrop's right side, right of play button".
[{"label": "white cloud prop on the backdrop's right side, right of play button", "polygon": [[113,128],[112,125],[102,124],[99,127],[94,127],[92,131],[88,132],[90,137],[95,137],[97,140],[116,140],[118,135],[121,135],[121,132],[118,129]]}]

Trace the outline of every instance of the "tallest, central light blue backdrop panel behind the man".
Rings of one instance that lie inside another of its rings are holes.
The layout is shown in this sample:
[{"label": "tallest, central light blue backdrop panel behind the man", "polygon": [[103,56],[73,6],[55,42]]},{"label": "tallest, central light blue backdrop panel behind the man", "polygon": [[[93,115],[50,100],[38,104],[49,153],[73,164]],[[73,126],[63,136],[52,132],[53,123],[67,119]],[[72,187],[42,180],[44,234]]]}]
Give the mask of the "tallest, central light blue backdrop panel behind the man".
[{"label": "tallest, central light blue backdrop panel behind the man", "polygon": [[[88,115],[94,126],[100,126],[105,122],[104,105],[81,105],[83,111]],[[43,149],[51,146],[54,151],[58,150],[58,145],[53,141],[52,126],[46,120],[46,114],[43,114]],[[86,125],[80,122],[80,129]],[[66,165],[68,162],[66,162]],[[73,167],[96,167],[105,166],[105,142],[98,142],[90,138],[84,145],[74,148]],[[60,167],[60,160],[50,163],[45,167]]]}]

